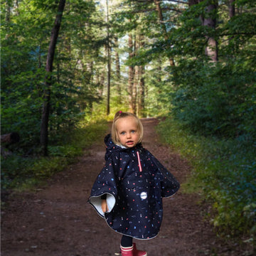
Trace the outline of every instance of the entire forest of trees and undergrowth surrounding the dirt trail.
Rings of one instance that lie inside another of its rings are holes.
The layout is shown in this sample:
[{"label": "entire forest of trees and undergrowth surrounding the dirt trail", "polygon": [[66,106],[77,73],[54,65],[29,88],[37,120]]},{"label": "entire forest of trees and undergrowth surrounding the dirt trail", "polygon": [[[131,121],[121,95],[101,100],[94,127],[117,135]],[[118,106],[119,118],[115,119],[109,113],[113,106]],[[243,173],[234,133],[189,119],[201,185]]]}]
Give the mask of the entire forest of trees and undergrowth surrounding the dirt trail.
[{"label": "entire forest of trees and undergrowth surrounding the dirt trail", "polygon": [[255,242],[255,28],[255,0],[2,1],[3,188],[70,163],[117,110],[166,117],[215,226]]}]

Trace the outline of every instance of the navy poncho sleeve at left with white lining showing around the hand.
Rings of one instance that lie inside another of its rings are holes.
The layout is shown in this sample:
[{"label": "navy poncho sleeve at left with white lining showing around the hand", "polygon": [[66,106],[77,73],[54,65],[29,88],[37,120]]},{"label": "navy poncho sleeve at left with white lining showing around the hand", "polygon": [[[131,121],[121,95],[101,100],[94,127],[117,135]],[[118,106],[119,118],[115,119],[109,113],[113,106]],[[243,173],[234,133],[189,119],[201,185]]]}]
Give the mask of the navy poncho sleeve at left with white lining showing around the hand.
[{"label": "navy poncho sleeve at left with white lining showing around the hand", "polygon": [[[103,196],[104,195],[104,196]],[[114,163],[112,159],[107,159],[105,166],[97,176],[95,183],[92,186],[89,203],[95,208],[101,217],[105,217],[101,208],[102,198],[107,200],[107,213],[110,213],[114,208],[117,196],[117,183],[114,175]]]}]

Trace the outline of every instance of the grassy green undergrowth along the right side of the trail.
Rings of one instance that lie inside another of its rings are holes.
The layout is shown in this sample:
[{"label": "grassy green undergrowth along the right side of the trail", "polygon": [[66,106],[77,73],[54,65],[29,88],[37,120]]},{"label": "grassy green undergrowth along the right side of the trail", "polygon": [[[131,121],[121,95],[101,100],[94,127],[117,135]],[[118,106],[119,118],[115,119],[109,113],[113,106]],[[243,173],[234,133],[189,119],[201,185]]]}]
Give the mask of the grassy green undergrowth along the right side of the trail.
[{"label": "grassy green undergrowth along the right side of the trail", "polygon": [[203,193],[211,203],[210,221],[218,235],[255,246],[256,144],[246,137],[201,137],[173,119],[157,127],[164,141],[193,166],[185,190]]}]

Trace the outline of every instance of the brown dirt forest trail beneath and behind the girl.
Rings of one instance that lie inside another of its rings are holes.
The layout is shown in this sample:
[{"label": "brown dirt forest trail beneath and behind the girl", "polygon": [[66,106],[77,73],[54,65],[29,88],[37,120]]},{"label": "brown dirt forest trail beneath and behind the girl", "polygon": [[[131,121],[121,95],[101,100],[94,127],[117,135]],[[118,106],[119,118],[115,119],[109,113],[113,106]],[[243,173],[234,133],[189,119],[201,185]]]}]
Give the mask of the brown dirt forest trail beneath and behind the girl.
[{"label": "brown dirt forest trail beneath and behind the girl", "polygon": [[[186,161],[161,144],[154,132],[157,119],[142,119],[143,145],[183,183],[190,172]],[[92,183],[105,163],[105,145],[95,144],[77,164],[56,174],[34,193],[9,198],[1,217],[1,256],[111,256],[120,235],[87,203]],[[164,198],[159,235],[137,240],[149,256],[242,255],[220,244],[203,221],[198,196],[183,193]]]}]

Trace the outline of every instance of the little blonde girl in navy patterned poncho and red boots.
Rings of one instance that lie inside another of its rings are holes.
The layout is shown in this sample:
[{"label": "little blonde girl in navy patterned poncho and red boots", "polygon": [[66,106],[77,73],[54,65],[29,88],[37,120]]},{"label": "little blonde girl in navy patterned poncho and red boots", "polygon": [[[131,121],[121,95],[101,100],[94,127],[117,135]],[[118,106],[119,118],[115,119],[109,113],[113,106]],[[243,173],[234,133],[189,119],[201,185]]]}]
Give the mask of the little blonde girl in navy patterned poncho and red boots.
[{"label": "little blonde girl in navy patterned poncho and red boots", "polygon": [[176,178],[142,147],[143,127],[132,113],[114,116],[111,135],[105,137],[106,164],[92,187],[90,204],[107,224],[122,234],[122,256],[146,256],[133,238],[151,239],[163,218],[162,197],[178,191]]}]

